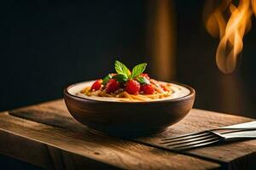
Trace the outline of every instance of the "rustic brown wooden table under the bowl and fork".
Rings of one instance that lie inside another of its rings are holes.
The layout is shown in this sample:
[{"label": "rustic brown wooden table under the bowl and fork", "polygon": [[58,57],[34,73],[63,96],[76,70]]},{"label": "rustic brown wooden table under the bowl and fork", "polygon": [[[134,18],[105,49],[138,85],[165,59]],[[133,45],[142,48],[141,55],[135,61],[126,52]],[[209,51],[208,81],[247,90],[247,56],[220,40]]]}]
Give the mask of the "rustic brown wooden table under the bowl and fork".
[{"label": "rustic brown wooden table under the bowl and fork", "polygon": [[164,133],[119,139],[92,133],[60,99],[0,113],[0,153],[46,169],[256,169],[256,140],[183,152],[157,145],[161,137],[250,121],[194,109]]}]

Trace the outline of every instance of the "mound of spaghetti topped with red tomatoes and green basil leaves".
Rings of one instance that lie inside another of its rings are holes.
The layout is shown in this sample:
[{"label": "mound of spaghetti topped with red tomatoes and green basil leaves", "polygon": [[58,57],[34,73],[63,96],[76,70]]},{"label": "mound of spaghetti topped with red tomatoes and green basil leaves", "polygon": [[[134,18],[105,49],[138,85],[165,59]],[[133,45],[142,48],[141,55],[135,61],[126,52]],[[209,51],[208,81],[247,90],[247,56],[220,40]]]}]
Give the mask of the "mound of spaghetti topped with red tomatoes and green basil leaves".
[{"label": "mound of spaghetti topped with red tomatoes and green basil leaves", "polygon": [[124,64],[115,61],[116,73],[98,79],[79,93],[86,96],[118,98],[120,101],[150,101],[163,99],[173,94],[172,84],[158,82],[143,73],[146,63],[133,67],[130,71]]}]

